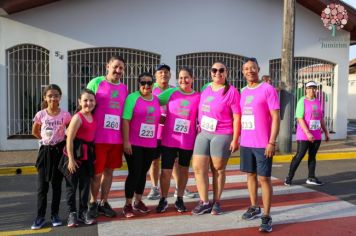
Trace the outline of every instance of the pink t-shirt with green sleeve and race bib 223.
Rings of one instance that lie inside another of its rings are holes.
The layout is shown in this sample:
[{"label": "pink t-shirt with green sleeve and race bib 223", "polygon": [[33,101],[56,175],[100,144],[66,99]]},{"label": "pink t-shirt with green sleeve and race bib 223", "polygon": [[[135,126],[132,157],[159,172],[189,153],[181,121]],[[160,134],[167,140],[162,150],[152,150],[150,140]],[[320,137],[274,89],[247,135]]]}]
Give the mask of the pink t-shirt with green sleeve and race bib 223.
[{"label": "pink t-shirt with green sleeve and race bib 223", "polygon": [[131,93],[126,101],[123,119],[130,120],[131,145],[157,147],[157,128],[161,117],[158,98],[145,100],[138,91]]}]

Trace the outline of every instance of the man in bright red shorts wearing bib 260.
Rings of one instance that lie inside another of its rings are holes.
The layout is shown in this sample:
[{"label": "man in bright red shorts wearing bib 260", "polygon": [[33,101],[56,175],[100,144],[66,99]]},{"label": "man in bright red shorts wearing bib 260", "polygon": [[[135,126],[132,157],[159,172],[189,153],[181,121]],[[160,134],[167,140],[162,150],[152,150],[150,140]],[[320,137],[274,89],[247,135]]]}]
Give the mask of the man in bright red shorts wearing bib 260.
[{"label": "man in bright red shorts wearing bib 260", "polygon": [[[122,111],[127,96],[127,87],[121,83],[125,71],[122,57],[113,56],[106,64],[107,74],[92,79],[87,88],[95,93],[97,122],[95,134],[94,177],[91,181],[89,214],[115,217],[116,212],[108,203],[113,171],[122,166],[123,140],[121,133]],[[101,200],[97,197],[101,190]]]}]

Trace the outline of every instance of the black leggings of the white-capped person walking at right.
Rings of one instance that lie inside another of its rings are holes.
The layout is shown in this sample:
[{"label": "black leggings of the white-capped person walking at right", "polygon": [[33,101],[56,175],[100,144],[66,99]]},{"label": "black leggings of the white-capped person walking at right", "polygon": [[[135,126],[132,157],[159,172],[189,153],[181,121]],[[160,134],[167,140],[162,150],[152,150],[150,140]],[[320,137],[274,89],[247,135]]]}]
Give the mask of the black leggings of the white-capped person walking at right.
[{"label": "black leggings of the white-capped person walking at right", "polygon": [[315,178],[316,153],[318,152],[321,140],[316,140],[313,143],[310,141],[297,141],[297,153],[292,159],[289,167],[288,178],[293,179],[300,162],[303,160],[308,151],[308,178]]}]

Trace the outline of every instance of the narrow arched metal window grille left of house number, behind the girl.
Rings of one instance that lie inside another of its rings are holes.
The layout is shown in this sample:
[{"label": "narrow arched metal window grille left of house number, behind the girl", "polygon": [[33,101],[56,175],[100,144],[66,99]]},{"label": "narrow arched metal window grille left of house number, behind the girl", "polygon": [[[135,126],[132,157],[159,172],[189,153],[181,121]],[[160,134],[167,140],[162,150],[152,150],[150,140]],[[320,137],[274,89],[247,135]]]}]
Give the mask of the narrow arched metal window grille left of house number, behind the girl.
[{"label": "narrow arched metal window grille left of house number, behind the girl", "polygon": [[49,83],[49,51],[32,44],[6,50],[7,135],[27,138],[41,107],[42,88]]}]

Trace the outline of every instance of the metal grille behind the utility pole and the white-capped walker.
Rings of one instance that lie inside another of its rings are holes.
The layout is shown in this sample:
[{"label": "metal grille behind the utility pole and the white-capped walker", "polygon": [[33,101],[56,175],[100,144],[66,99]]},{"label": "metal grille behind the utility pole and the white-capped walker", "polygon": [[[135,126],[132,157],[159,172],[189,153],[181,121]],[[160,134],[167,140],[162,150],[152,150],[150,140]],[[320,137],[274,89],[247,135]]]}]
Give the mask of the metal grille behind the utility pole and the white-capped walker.
[{"label": "metal grille behind the utility pole and the white-capped walker", "polygon": [[[334,100],[334,68],[335,64],[317,58],[295,57],[294,58],[293,91],[294,102],[293,114],[296,104],[305,92],[305,83],[315,81],[319,84],[317,98],[321,101],[326,126],[330,132],[334,130],[333,100]],[[281,85],[281,59],[270,60],[270,76],[274,86]],[[297,122],[294,121],[294,132]]]}]

